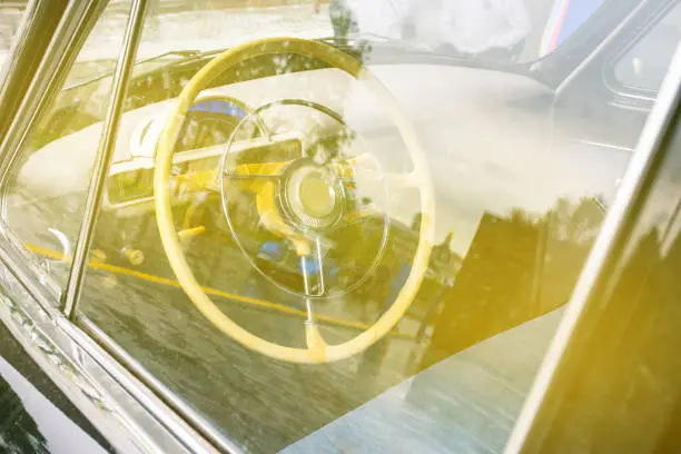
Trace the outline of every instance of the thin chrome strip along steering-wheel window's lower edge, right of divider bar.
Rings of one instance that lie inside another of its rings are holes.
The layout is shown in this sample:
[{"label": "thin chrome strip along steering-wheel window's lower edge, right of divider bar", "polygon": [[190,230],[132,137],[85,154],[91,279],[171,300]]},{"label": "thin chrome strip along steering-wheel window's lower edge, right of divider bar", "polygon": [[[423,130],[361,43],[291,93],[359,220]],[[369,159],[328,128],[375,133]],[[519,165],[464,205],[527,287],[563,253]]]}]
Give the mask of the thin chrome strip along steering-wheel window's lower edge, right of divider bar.
[{"label": "thin chrome strip along steering-wheel window's lower edge, right of divider bar", "polygon": [[[168,389],[162,383],[160,383],[154,375],[151,375],[141,364],[135,361],[128,353],[122,349],[115,340],[112,340],[105,332],[102,332],[92,320],[83,315],[78,315],[78,325],[80,328],[91,336],[97,343],[105,348],[115,359],[130,371],[137,379],[142,382],[149,389],[151,389],[161,401],[165,402],[170,408],[177,412],[185,418],[195,431],[200,433],[206,440],[218,446],[223,452],[229,454],[243,453],[231,441],[227,440],[219,430],[213,424],[206,421],[206,418],[199,415],[194,408],[191,408],[185,401],[178,397],[174,392]],[[136,389],[131,386],[126,386],[121,383],[121,386],[135,393]],[[139,399],[140,403],[144,402]],[[162,409],[149,408],[150,413],[155,415],[162,415]],[[160,420],[159,420],[160,421]],[[168,426],[177,434],[176,430]],[[184,440],[184,438],[182,438]]]}]

